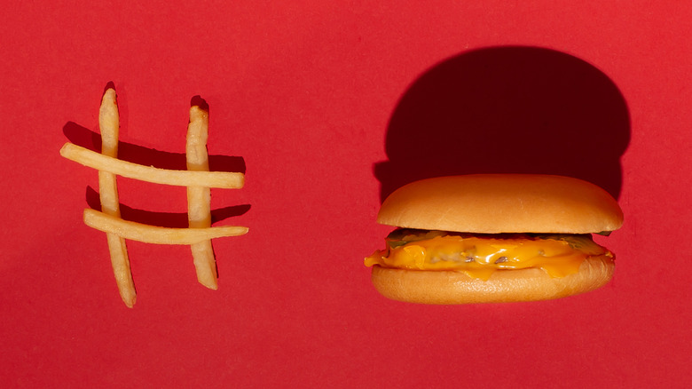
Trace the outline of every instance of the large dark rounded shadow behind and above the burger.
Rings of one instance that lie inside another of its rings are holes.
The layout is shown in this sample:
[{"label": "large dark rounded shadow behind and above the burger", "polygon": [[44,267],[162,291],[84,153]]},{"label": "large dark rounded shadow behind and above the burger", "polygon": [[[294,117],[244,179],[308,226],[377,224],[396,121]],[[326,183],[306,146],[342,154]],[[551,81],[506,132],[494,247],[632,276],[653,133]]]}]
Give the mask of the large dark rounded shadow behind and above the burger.
[{"label": "large dark rounded shadow behind and above the burger", "polygon": [[405,91],[389,120],[381,201],[418,179],[539,173],[584,179],[616,199],[630,115],[615,83],[585,60],[523,46],[444,60]]}]

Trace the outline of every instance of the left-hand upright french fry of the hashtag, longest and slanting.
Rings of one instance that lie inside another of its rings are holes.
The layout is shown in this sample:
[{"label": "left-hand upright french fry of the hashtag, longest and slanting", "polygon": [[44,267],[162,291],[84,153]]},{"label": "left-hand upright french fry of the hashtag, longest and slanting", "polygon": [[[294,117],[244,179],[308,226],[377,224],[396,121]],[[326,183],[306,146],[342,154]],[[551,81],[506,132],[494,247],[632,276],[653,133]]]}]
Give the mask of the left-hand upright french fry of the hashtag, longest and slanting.
[{"label": "left-hand upright french fry of the hashtag, longest and slanting", "polygon": [[[101,131],[101,154],[117,158],[120,118],[118,103],[113,89],[108,89],[101,100],[101,107],[98,111],[98,127]],[[98,188],[101,210],[106,215],[120,218],[116,176],[112,172],[99,170]],[[135,290],[135,282],[132,280],[130,258],[128,258],[125,240],[116,234],[106,234],[106,239],[120,297],[125,305],[131,308],[137,301],[137,292]]]}]

